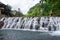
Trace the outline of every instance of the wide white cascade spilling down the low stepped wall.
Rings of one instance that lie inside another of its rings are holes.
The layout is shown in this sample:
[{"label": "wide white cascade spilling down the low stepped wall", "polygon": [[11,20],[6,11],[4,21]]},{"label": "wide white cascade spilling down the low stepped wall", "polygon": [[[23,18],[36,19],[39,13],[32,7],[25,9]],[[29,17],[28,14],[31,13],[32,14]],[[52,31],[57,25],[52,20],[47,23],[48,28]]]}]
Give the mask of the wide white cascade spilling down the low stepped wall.
[{"label": "wide white cascade spilling down the low stepped wall", "polygon": [[60,30],[60,17],[2,17],[2,29]]}]

